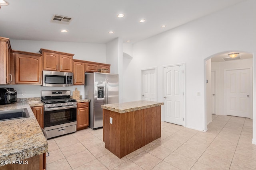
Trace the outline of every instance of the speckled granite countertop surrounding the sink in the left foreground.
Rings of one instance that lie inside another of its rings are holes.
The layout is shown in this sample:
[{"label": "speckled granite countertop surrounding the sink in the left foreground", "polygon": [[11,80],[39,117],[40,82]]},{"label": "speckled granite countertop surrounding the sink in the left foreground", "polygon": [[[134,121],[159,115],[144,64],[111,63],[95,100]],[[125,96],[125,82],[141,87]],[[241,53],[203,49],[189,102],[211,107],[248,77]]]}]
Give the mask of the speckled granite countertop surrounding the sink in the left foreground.
[{"label": "speckled granite countertop surrounding the sink in the left foreground", "polygon": [[28,109],[30,117],[0,121],[0,161],[24,160],[48,151],[48,143],[28,102],[0,105],[0,110],[21,108]]}]

